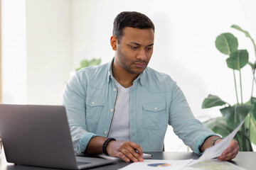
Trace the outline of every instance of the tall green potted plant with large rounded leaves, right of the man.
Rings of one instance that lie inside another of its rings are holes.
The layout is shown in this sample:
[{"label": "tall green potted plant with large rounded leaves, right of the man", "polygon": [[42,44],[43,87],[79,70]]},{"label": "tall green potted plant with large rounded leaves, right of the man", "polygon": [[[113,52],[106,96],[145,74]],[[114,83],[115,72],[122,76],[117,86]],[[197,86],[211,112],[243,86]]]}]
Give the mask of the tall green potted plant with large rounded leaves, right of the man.
[{"label": "tall green potted plant with large rounded leaves, right of the man", "polygon": [[[251,38],[250,33],[242,30],[239,26],[233,25],[231,28],[242,31],[247,38],[250,38],[255,50],[255,41]],[[230,103],[223,101],[218,96],[208,95],[204,99],[202,108],[212,108],[215,106],[223,106],[220,108],[220,113],[223,115],[218,118],[211,118],[203,123],[213,132],[225,137],[230,134],[243,120],[242,127],[235,135],[235,140],[238,141],[240,151],[253,151],[251,142],[256,144],[256,98],[252,96],[253,88],[256,84],[255,80],[255,62],[249,62],[249,54],[247,50],[238,50],[238,38],[231,33],[220,34],[215,40],[215,46],[224,55],[228,55],[226,60],[228,68],[232,69],[234,75],[235,96],[237,103],[233,106]],[[242,98],[242,74],[241,69],[246,65],[252,68],[252,92],[248,101],[245,102]],[[237,80],[235,75],[239,74],[240,79]],[[239,85],[237,84],[239,81]],[[240,86],[240,94],[238,94],[238,86]]]}]

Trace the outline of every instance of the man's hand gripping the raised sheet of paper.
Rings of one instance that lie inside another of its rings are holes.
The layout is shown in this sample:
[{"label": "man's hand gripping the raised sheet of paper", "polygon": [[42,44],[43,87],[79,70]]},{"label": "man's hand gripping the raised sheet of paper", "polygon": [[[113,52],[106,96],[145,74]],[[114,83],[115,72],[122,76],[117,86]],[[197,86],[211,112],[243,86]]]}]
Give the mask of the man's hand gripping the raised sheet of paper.
[{"label": "man's hand gripping the raised sheet of paper", "polygon": [[[215,144],[220,142],[221,140],[216,140]],[[238,146],[238,142],[236,140],[231,140],[228,148],[223,151],[223,153],[218,157],[221,161],[228,161],[234,159],[238,154],[238,150],[240,147]]]}]

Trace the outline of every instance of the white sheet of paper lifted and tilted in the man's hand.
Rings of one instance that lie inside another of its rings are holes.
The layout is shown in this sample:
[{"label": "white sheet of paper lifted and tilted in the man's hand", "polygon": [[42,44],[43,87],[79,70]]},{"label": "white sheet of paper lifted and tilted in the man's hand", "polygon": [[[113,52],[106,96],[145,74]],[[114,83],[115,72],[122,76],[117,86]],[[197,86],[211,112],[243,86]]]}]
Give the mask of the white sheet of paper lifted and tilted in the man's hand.
[{"label": "white sheet of paper lifted and tilted in the man's hand", "polygon": [[[242,121],[242,123],[244,123],[244,121]],[[240,123],[240,125],[238,125],[238,127],[235,128],[235,130],[233,130],[233,132],[231,132],[230,135],[226,136],[223,140],[221,140],[220,142],[218,142],[217,144],[215,144],[212,147],[208,147],[203,152],[203,154],[201,155],[201,157],[199,159],[197,159],[194,162],[191,162],[191,164],[189,164],[189,165],[197,164],[198,162],[203,162],[205,160],[209,160],[209,159],[213,159],[215,157],[219,157],[222,154],[222,152],[225,149],[228,148],[228,145],[230,144],[230,141],[233,140],[233,137],[238,132],[242,123]]]}]

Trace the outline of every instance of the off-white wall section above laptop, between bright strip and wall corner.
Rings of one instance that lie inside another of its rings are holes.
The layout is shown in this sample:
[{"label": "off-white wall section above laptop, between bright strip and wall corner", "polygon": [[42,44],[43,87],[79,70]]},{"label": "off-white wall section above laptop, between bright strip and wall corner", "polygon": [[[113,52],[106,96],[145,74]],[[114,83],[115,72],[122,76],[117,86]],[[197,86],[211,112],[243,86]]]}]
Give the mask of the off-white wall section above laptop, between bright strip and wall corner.
[{"label": "off-white wall section above laptop, between bright strip and wall corner", "polygon": [[26,0],[27,103],[60,104],[71,70],[71,1]]}]

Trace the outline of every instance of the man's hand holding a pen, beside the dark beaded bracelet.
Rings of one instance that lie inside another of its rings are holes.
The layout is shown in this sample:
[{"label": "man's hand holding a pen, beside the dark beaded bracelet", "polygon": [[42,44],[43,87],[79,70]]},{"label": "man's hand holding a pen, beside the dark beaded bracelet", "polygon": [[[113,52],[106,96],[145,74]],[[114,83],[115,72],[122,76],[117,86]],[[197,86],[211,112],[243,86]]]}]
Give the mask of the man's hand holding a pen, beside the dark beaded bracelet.
[{"label": "man's hand holding a pen, beside the dark beaded bracelet", "polygon": [[111,141],[107,145],[107,153],[112,157],[119,157],[125,162],[143,162],[142,148],[134,142]]}]

